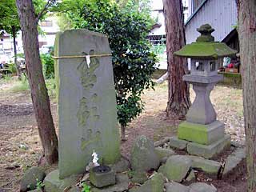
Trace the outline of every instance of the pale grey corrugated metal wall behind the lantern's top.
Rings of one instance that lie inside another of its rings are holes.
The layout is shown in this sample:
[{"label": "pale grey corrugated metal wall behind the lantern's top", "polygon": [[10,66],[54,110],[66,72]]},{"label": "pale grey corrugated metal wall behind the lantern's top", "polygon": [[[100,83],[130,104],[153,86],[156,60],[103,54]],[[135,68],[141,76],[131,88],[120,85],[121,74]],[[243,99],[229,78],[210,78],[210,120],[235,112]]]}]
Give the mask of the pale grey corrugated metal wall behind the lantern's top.
[{"label": "pale grey corrugated metal wall behind the lantern's top", "polygon": [[235,0],[208,0],[198,13],[186,23],[186,43],[195,42],[202,24],[209,23],[214,29],[215,41],[221,42],[237,24]]}]

